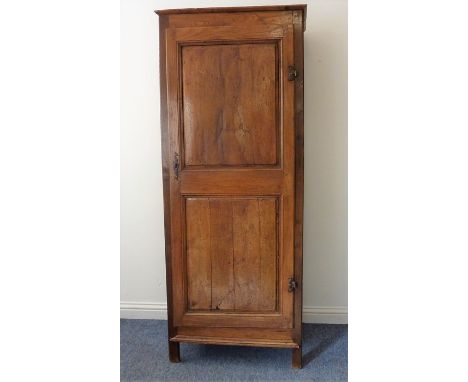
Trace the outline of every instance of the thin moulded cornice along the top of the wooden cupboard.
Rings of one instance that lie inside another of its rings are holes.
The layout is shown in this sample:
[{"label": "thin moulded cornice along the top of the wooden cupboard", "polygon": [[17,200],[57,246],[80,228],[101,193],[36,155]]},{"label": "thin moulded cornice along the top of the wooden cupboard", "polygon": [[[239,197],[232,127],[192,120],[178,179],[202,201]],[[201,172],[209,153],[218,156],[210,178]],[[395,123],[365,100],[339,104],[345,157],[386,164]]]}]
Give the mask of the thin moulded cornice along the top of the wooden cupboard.
[{"label": "thin moulded cornice along the top of the wooden cupboard", "polygon": [[267,12],[267,11],[302,11],[303,26],[305,30],[305,21],[307,15],[307,4],[288,4],[288,5],[263,5],[249,7],[212,7],[212,8],[181,8],[181,9],[157,9],[154,12],[159,16],[165,15],[183,15],[196,13],[234,13],[234,12]]}]

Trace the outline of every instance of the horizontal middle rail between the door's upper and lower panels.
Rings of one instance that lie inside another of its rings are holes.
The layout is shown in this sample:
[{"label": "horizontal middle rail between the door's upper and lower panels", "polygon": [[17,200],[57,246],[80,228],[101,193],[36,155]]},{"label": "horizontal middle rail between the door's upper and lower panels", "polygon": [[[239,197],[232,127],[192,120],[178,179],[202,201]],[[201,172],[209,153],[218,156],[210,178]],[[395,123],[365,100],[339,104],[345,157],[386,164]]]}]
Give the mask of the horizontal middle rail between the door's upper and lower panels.
[{"label": "horizontal middle rail between the door's upper and lower panels", "polygon": [[285,188],[281,170],[182,170],[182,194],[272,195]]}]

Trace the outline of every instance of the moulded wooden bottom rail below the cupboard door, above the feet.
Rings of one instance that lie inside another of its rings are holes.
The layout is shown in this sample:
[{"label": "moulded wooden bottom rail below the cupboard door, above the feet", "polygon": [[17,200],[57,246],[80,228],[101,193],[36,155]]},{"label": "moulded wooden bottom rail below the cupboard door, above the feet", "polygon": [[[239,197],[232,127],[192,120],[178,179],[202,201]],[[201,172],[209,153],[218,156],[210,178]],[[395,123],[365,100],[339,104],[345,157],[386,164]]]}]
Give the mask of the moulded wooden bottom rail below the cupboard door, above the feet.
[{"label": "moulded wooden bottom rail below the cupboard door, above the feet", "polygon": [[213,328],[200,326],[178,326],[177,335],[221,338],[257,338],[273,340],[292,340],[292,329],[276,328]]}]

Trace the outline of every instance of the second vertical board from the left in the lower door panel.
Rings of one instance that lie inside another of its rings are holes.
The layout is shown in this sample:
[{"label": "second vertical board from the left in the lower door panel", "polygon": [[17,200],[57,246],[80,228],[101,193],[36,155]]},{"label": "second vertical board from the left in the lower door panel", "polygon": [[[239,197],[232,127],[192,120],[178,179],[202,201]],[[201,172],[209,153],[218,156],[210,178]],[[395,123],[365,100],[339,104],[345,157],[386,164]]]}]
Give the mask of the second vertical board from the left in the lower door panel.
[{"label": "second vertical board from the left in the lower door panel", "polygon": [[210,199],[211,309],[234,309],[232,201]]}]

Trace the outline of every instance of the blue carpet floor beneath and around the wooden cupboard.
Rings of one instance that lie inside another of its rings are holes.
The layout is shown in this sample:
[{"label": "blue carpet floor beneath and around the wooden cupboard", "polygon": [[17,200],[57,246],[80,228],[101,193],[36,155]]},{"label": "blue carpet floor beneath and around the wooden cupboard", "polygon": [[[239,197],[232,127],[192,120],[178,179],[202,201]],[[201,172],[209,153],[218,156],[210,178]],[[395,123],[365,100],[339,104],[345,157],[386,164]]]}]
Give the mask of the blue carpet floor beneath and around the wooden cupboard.
[{"label": "blue carpet floor beneath and around the wooden cupboard", "polygon": [[304,324],[302,354],[298,370],[288,349],[181,344],[171,363],[167,321],[120,320],[121,381],[347,381],[348,326]]}]

